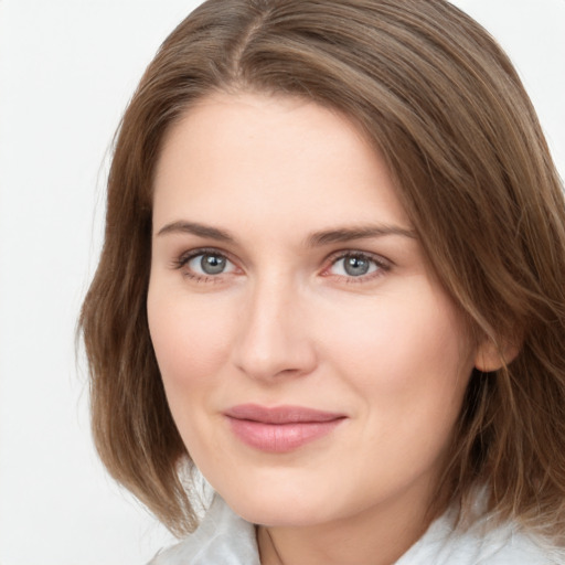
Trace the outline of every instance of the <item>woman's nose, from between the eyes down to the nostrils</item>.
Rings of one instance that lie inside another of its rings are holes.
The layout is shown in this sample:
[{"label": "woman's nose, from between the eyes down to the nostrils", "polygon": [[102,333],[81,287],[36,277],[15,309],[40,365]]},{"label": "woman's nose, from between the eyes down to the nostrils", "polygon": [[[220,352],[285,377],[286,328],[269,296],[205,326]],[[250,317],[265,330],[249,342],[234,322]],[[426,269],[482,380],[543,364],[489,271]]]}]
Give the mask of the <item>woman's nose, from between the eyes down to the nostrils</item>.
[{"label": "woman's nose, from between the eyes down to the nostrils", "polygon": [[[257,282],[242,305],[234,363],[253,379],[301,376],[313,371],[317,353],[299,292],[280,280]],[[308,308],[306,308],[308,310]]]}]

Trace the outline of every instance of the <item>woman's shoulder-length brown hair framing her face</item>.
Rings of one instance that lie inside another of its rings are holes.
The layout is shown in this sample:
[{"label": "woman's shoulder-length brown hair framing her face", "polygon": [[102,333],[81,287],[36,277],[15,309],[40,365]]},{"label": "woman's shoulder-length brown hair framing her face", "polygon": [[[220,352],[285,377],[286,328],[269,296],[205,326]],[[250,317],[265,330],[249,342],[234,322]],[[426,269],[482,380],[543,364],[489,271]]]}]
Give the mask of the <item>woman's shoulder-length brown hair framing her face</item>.
[{"label": "woman's shoulder-length brown hair framing her face", "polygon": [[444,0],[209,0],[167,39],[124,116],[105,243],[81,328],[96,446],[171,530],[194,513],[146,315],[152,177],[163,136],[214,90],[307,97],[386,159],[424,249],[500,371],[471,376],[438,484],[543,533],[565,530],[565,205],[511,63]]}]

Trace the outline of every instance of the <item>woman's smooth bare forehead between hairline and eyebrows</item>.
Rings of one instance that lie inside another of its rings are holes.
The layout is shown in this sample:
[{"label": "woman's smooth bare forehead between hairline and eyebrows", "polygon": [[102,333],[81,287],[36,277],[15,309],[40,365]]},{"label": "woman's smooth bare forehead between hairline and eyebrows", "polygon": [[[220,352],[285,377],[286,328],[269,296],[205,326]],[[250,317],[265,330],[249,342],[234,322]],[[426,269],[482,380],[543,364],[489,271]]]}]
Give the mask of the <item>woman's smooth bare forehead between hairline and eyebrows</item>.
[{"label": "woman's smooth bare forehead between hairline and eyebrows", "polygon": [[300,98],[214,94],[164,139],[156,224],[198,215],[286,228],[408,224],[384,160],[342,115]]}]

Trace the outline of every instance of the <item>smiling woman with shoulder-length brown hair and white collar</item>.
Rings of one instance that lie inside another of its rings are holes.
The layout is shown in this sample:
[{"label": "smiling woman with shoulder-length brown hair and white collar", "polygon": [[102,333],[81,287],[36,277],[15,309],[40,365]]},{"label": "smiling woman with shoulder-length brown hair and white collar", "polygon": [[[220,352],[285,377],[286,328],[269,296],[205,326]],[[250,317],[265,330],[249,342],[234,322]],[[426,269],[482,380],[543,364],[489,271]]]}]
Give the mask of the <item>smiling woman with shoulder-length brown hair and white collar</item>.
[{"label": "smiling woman with shoulder-length brown hair and white collar", "polygon": [[124,117],[82,328],[154,563],[565,563],[565,206],[443,0],[210,0]]}]

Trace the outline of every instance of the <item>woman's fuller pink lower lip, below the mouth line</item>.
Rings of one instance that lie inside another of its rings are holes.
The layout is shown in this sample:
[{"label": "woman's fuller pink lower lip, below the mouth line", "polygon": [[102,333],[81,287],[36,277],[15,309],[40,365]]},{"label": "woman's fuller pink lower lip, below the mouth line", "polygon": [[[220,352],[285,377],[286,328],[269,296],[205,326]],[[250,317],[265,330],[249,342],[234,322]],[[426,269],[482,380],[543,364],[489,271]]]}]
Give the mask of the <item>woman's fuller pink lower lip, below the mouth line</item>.
[{"label": "woman's fuller pink lower lip, below the mouth line", "polygon": [[248,419],[228,417],[232,431],[246,445],[269,451],[284,454],[327,436],[344,418],[328,422],[292,422],[288,424],[266,424]]}]

